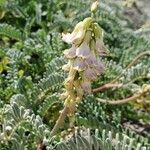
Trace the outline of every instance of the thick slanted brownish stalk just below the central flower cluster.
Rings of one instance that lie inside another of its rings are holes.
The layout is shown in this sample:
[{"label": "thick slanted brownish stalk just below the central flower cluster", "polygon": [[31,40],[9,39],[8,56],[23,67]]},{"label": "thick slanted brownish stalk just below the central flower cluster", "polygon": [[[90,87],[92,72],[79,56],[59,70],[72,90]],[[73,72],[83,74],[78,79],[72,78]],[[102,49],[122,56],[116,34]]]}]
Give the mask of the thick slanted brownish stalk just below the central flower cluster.
[{"label": "thick slanted brownish stalk just below the central flower cluster", "polygon": [[55,135],[57,130],[60,128],[60,126],[64,122],[64,119],[67,116],[68,112],[69,112],[69,107],[65,106],[64,109],[61,111],[61,114],[60,114],[58,120],[56,121],[55,126],[53,127],[53,129],[50,133],[51,136]]}]

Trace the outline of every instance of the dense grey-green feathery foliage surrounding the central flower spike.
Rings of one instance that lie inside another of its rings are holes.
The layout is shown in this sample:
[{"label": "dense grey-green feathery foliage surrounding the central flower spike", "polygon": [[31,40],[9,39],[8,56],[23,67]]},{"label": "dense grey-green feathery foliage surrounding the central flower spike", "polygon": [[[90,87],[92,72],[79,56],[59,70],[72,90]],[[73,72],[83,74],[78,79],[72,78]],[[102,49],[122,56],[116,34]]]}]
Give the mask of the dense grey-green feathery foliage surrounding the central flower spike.
[{"label": "dense grey-green feathery foliage surrounding the central flower spike", "polygon": [[[67,77],[61,33],[91,15],[91,1],[0,1],[0,149],[150,149],[150,30],[121,3],[103,0],[95,20],[109,54],[103,75],[77,107],[74,125],[63,109]],[[137,7],[133,5],[134,11]],[[139,11],[136,13],[138,14]],[[75,127],[75,128],[74,128]]]}]

